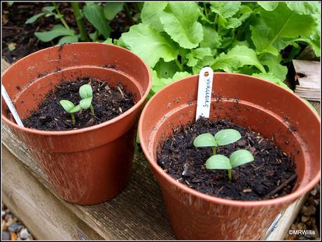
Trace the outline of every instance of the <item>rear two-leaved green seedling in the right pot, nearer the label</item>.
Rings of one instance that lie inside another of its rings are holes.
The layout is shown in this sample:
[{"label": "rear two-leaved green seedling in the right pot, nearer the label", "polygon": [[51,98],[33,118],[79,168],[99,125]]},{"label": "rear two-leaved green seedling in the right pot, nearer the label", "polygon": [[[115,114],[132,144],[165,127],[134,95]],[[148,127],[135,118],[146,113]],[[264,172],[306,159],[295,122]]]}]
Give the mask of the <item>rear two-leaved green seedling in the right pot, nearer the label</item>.
[{"label": "rear two-leaved green seedling in the right pot, nearer the label", "polygon": [[221,145],[228,145],[234,143],[241,138],[239,131],[235,129],[223,129],[218,131],[215,135],[200,134],[193,141],[193,145],[197,148],[211,147],[213,155],[216,155],[216,147]]}]

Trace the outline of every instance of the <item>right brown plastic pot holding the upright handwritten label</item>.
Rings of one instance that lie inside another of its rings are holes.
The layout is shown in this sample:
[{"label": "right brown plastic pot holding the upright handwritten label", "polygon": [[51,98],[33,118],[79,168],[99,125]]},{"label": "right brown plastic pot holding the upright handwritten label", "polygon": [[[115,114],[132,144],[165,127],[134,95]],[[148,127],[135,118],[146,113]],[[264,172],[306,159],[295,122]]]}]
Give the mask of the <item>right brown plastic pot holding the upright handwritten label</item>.
[{"label": "right brown plastic pot holding the upright handwritten label", "polygon": [[160,183],[174,234],[193,240],[263,239],[276,215],[320,179],[318,115],[278,85],[252,76],[214,73],[210,118],[227,118],[267,138],[273,136],[288,155],[295,155],[298,178],[291,194],[276,199],[212,197],[176,182],[156,160],[160,143],[173,128],[195,121],[197,82],[198,76],[191,76],[165,87],[148,101],[139,121],[141,147]]}]

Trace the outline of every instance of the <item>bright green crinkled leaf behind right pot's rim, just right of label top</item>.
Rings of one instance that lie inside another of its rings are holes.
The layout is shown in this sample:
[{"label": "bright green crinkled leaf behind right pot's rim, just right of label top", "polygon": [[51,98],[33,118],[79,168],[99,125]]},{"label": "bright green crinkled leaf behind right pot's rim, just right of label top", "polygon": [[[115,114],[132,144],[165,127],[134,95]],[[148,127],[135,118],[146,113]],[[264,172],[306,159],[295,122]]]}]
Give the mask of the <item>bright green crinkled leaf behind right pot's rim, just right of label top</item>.
[{"label": "bright green crinkled leaf behind right pot's rim, just right of label top", "polygon": [[235,72],[245,65],[256,66],[261,72],[266,72],[264,66],[258,61],[255,50],[241,45],[232,48],[227,54],[221,53],[211,67],[214,70]]}]

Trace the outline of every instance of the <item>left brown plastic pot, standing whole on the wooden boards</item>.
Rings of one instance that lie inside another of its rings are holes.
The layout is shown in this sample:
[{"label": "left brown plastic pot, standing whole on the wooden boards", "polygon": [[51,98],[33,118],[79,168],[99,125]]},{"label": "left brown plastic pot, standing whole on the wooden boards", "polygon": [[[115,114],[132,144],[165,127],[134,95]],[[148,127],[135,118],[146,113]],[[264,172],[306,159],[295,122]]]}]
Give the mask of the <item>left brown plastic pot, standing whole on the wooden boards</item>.
[{"label": "left brown plastic pot, standing whole on the wooden boards", "polygon": [[[2,118],[25,142],[60,197],[98,204],[123,190],[130,178],[139,115],[151,88],[148,66],[133,52],[104,43],[72,43],[34,52],[3,73],[2,83],[20,118],[37,108],[62,80],[90,76],[134,94],[135,105],[112,120],[72,131],[41,131]],[[19,90],[18,90],[19,89]]]}]

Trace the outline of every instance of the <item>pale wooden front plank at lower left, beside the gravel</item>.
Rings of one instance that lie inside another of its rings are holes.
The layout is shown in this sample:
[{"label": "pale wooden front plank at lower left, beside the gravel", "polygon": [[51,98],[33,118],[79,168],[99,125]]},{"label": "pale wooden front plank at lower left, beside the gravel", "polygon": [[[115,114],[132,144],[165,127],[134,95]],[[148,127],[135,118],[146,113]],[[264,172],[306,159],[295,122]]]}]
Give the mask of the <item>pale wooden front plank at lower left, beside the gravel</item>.
[{"label": "pale wooden front plank at lower left, beside the gravel", "polygon": [[3,203],[28,226],[36,239],[80,239],[78,230],[92,239],[103,239],[34,178],[4,145],[2,178]]}]

